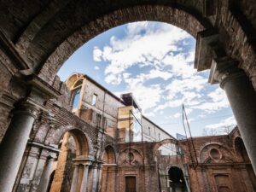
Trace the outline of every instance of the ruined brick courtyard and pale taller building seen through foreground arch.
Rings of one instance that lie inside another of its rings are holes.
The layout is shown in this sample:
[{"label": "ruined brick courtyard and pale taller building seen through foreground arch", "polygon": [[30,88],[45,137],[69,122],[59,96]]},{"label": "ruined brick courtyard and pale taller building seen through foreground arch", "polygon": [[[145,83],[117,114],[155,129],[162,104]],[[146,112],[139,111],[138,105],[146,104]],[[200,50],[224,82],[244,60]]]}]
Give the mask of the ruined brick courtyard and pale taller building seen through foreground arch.
[{"label": "ruined brick courtyard and pale taller building seen through foreground arch", "polygon": [[[239,131],[177,140],[90,77],[55,78],[13,191],[254,191],[256,177]],[[192,143],[193,142],[193,143]]]}]

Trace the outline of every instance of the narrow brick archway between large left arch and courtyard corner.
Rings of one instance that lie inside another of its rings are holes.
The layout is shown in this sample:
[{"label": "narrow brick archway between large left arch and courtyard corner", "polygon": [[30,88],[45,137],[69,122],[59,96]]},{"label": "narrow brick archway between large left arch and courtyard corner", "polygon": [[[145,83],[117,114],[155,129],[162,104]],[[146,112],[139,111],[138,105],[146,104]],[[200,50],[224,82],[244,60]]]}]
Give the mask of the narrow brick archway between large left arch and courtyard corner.
[{"label": "narrow brick archway between large left arch and courtyard corner", "polygon": [[108,145],[102,154],[102,181],[101,192],[115,191],[116,181],[116,157],[113,147]]}]

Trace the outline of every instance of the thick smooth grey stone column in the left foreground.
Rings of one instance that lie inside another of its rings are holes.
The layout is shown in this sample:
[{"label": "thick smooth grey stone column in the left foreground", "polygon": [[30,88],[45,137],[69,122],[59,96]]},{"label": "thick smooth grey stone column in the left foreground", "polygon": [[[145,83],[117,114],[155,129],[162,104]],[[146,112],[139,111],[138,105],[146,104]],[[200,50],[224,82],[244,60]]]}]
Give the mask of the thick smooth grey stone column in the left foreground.
[{"label": "thick smooth grey stone column in the left foreground", "polygon": [[30,102],[23,102],[15,109],[0,145],[0,192],[12,191],[38,109]]}]

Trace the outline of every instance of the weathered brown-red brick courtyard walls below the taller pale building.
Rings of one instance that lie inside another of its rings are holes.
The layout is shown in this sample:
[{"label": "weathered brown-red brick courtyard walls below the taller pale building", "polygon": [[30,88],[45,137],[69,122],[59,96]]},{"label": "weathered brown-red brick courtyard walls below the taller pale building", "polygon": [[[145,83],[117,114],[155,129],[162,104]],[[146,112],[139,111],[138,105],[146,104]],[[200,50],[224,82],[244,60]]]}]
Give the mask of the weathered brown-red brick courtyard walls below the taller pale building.
[{"label": "weathered brown-red brick courtyard walls below the taller pale building", "polygon": [[[58,87],[62,87],[63,95],[72,97],[64,86]],[[137,191],[169,191],[172,186],[169,170],[172,167],[182,170],[187,182],[184,186],[190,191],[222,191],[220,186],[228,191],[255,190],[256,177],[246,150],[242,142],[236,142],[241,140],[237,128],[230,135],[194,137],[195,153],[191,140],[177,141],[172,137],[160,142],[119,143],[117,137],[110,137],[107,132],[104,134],[96,124],[90,125],[71,113],[71,103],[72,100],[60,97],[58,101],[45,104],[50,116],[41,113],[33,126],[14,191],[38,191],[49,158],[55,158],[55,165],[51,168],[51,172],[55,172],[54,178],[52,183],[47,183],[49,191],[70,191],[75,165],[79,163],[76,159],[82,156],[90,160],[87,191],[125,192],[126,177],[136,177]],[[64,137],[67,132],[76,142],[67,144]],[[181,146],[183,153],[161,154],[161,146],[168,143]],[[211,154],[215,149],[219,154]],[[77,179],[81,186],[84,164],[79,165]]]}]

